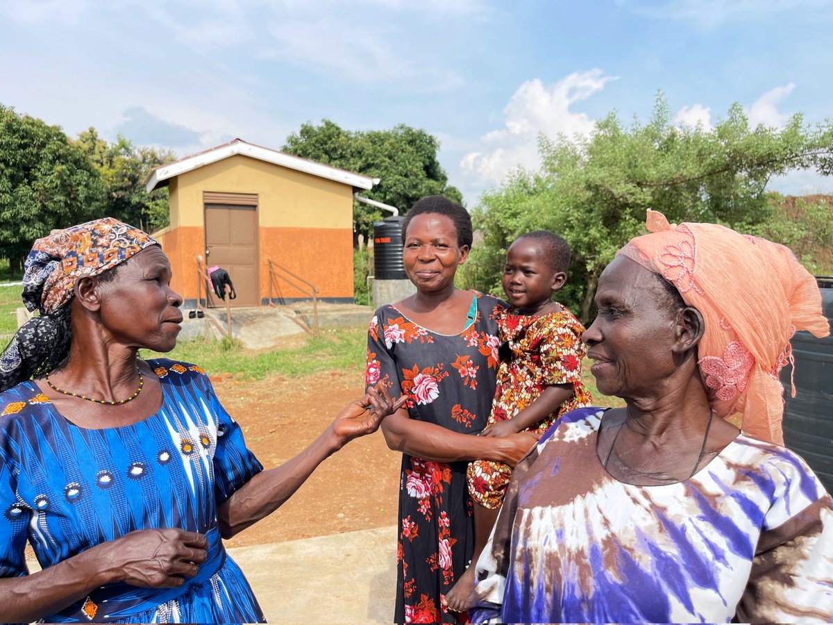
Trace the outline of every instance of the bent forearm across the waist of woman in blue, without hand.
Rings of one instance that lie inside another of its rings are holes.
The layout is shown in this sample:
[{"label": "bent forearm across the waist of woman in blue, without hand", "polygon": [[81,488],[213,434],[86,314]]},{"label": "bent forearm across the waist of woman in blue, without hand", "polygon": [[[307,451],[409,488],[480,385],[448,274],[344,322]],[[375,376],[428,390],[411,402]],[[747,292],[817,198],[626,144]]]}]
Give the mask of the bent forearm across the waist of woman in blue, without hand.
[{"label": "bent forearm across the waist of woman in blue, without hand", "polygon": [[60,612],[103,584],[117,581],[101,566],[104,545],[23,577],[0,579],[2,622],[32,622]]}]

